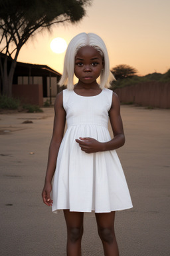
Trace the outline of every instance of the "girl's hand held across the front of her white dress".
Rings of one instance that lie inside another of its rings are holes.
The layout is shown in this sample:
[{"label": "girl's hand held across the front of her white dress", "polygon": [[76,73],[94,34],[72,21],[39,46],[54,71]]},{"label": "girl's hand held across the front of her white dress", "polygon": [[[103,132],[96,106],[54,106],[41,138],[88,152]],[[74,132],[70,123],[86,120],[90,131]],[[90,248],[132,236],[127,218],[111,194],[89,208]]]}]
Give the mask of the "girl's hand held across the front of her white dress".
[{"label": "girl's hand held across the front of her white dress", "polygon": [[80,137],[79,139],[76,139],[76,142],[85,153],[96,153],[99,151],[104,151],[103,143],[96,141],[96,139],[93,138]]}]

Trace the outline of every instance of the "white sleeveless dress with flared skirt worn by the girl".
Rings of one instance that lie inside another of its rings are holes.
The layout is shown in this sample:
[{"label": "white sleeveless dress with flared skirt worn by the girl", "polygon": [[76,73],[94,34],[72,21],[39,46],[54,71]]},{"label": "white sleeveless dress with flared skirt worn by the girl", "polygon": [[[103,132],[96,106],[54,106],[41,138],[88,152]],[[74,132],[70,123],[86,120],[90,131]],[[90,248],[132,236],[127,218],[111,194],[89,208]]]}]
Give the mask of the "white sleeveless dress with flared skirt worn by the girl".
[{"label": "white sleeveless dress with flared skirt worn by the girl", "polygon": [[112,91],[84,97],[63,91],[68,129],[58,152],[52,185],[52,211],[108,213],[132,207],[124,171],[115,150],[85,153],[75,139],[92,137],[110,141],[108,111]]}]

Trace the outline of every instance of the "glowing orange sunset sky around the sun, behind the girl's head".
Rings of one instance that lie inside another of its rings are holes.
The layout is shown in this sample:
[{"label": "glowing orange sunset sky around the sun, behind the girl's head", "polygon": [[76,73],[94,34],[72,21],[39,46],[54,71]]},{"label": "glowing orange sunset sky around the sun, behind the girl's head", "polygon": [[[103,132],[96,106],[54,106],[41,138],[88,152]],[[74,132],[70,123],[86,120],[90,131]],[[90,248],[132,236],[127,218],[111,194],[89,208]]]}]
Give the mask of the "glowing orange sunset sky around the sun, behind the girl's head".
[{"label": "glowing orange sunset sky around the sun, behind the girl's head", "polygon": [[100,35],[108,47],[110,68],[127,64],[138,75],[170,69],[169,0],[94,0],[77,25],[55,25],[23,46],[18,61],[48,65],[62,73],[64,54],[53,53],[55,37],[70,39],[81,32]]}]

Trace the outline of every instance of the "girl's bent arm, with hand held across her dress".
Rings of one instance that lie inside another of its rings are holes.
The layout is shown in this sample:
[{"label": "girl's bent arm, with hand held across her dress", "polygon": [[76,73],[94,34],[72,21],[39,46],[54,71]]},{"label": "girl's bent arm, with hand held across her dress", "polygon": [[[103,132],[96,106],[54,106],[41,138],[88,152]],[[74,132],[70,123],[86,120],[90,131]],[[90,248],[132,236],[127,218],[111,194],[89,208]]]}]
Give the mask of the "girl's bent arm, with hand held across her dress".
[{"label": "girl's bent arm, with hand held across her dress", "polygon": [[120,115],[120,101],[118,95],[113,93],[112,107],[109,111],[110,123],[114,138],[107,142],[100,142],[93,138],[80,138],[76,139],[79,143],[82,151],[86,153],[95,153],[100,151],[108,151],[118,149],[125,143],[124,128],[122,123],[122,117]]}]

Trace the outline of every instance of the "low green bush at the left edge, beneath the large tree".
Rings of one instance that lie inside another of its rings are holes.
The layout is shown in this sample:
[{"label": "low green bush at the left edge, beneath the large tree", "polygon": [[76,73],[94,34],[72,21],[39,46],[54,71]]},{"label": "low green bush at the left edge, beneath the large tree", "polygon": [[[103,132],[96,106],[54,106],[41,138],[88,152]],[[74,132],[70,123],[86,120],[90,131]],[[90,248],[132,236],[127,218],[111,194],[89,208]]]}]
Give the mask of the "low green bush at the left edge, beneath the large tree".
[{"label": "low green bush at the left edge, beneath the large tree", "polygon": [[0,95],[0,109],[18,109],[20,105],[19,99]]}]

